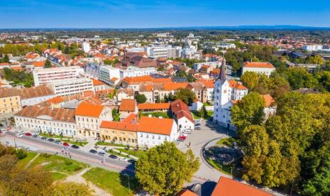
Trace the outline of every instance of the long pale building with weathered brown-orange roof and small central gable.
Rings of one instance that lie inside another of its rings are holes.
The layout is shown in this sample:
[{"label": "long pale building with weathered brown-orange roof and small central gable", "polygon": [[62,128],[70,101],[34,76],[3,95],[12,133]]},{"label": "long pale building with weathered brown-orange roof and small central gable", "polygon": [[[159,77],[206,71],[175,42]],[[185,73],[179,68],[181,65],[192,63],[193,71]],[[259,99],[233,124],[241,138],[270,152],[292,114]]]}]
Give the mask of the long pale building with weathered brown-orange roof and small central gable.
[{"label": "long pale building with weathered brown-orange roof and small central gable", "polygon": [[75,109],[27,106],[14,115],[16,129],[76,137]]}]

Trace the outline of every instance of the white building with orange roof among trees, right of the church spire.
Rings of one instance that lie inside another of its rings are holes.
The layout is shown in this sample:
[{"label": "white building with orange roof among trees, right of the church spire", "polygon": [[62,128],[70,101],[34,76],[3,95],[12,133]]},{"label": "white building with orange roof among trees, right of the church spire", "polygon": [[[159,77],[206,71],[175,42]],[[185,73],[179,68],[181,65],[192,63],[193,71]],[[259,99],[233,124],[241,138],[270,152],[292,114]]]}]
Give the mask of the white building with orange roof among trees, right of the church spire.
[{"label": "white building with orange roof among trees, right of the church spire", "polygon": [[265,74],[269,77],[274,71],[275,67],[270,62],[243,62],[242,75],[245,72],[256,72],[258,74]]}]

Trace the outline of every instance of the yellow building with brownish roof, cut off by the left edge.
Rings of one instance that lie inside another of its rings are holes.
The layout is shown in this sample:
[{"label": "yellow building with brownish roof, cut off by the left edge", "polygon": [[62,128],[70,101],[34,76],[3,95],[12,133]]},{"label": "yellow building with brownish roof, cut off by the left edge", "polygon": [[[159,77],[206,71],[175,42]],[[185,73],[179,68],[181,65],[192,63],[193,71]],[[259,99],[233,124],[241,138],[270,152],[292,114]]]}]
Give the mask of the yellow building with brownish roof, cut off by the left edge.
[{"label": "yellow building with brownish roof, cut off by the left edge", "polygon": [[0,114],[8,114],[22,109],[21,98],[19,94],[11,89],[0,88]]}]

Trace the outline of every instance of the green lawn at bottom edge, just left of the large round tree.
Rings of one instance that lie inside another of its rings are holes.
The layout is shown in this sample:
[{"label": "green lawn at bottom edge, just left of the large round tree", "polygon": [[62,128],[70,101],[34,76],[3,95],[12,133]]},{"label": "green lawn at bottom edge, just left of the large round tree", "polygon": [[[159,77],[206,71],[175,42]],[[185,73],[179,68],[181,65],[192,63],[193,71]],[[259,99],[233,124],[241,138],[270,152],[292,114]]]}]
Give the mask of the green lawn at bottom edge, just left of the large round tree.
[{"label": "green lawn at bottom edge, just left of the large round tree", "polygon": [[[128,187],[122,185],[119,173],[101,168],[92,168],[82,175],[87,181],[97,185],[111,193],[111,195],[133,195],[133,191],[128,192]],[[126,184],[126,182],[123,182]],[[133,179],[130,181],[131,189],[134,187]]]}]

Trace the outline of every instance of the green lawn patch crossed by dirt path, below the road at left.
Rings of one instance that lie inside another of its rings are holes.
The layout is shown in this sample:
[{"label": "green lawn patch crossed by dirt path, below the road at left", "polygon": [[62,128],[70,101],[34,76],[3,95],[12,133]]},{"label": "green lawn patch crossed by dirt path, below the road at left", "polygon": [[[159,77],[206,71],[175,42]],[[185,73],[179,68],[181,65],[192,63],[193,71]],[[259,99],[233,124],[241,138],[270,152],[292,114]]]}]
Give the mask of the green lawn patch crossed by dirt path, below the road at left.
[{"label": "green lawn patch crossed by dirt path, below the road at left", "polygon": [[[31,157],[28,156],[26,158]],[[23,158],[19,162],[28,163],[26,158]],[[29,165],[29,168],[33,168],[38,165],[42,166],[45,170],[49,170],[50,172],[52,172],[52,177],[54,180],[60,180],[62,178],[65,178],[67,175],[73,175],[75,173],[78,173],[80,170],[87,168],[88,166],[87,164],[80,163],[76,160],[64,158],[61,156],[49,154],[46,155],[44,153],[40,154],[40,156],[35,158],[31,165]]]}]

